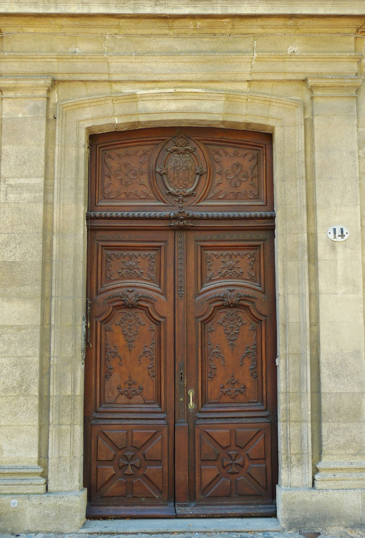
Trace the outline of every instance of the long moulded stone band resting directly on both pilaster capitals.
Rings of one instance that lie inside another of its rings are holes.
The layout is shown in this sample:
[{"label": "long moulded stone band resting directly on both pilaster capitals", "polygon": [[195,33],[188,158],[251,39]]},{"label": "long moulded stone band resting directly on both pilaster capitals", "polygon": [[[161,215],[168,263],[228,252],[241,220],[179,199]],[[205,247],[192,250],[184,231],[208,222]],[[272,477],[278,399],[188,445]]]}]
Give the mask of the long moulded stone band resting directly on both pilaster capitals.
[{"label": "long moulded stone band resting directly on both pilaster capitals", "polygon": [[[26,54],[0,53],[4,77],[47,77],[58,80],[271,80],[306,77],[352,77],[359,53],[311,54]],[[254,61],[253,61],[254,59]],[[1,80],[1,79],[0,79]]]}]

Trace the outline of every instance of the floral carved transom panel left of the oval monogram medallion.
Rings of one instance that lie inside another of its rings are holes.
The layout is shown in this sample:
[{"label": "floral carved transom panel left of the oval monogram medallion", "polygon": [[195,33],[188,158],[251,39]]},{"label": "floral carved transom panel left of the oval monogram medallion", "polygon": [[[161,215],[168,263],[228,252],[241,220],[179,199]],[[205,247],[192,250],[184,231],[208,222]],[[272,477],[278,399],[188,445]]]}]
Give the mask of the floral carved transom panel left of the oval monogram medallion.
[{"label": "floral carved transom panel left of the oval monogram medallion", "polygon": [[104,197],[125,199],[154,199],[147,182],[142,176],[152,147],[136,150],[111,151],[104,153]]}]

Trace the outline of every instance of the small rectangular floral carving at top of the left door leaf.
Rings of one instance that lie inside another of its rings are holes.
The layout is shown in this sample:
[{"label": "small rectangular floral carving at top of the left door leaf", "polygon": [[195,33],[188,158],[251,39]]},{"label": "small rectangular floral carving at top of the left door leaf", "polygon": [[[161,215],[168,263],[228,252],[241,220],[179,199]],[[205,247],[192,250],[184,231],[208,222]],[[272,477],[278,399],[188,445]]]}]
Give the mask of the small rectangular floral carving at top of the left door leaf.
[{"label": "small rectangular floral carving at top of the left door leaf", "polygon": [[[121,278],[137,278],[143,280],[151,280],[155,282],[155,261],[156,253],[154,252],[109,252],[106,256],[106,280],[112,280],[114,271],[112,271],[112,263],[115,259],[120,259],[120,269],[118,274]],[[149,270],[147,276],[143,274],[140,263],[141,260],[147,259]]]}]

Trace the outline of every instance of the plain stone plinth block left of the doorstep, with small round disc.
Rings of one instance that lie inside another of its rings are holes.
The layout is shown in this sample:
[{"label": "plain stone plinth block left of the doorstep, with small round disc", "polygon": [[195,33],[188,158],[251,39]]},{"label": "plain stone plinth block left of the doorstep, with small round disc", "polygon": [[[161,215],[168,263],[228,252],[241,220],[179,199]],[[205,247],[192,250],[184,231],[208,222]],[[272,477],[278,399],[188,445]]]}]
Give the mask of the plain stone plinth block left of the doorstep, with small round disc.
[{"label": "plain stone plinth block left of the doorstep, with small round disc", "polygon": [[85,521],[85,511],[85,488],[43,495],[0,495],[0,533],[75,532]]}]

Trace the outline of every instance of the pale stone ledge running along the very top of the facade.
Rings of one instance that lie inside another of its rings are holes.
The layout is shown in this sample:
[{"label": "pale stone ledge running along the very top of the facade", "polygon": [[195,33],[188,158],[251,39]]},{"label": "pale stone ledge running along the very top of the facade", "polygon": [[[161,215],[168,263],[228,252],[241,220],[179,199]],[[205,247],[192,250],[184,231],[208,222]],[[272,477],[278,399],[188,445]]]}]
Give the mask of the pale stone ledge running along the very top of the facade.
[{"label": "pale stone ledge running along the very top of the facade", "polygon": [[365,15],[365,0],[0,0],[1,13]]}]

